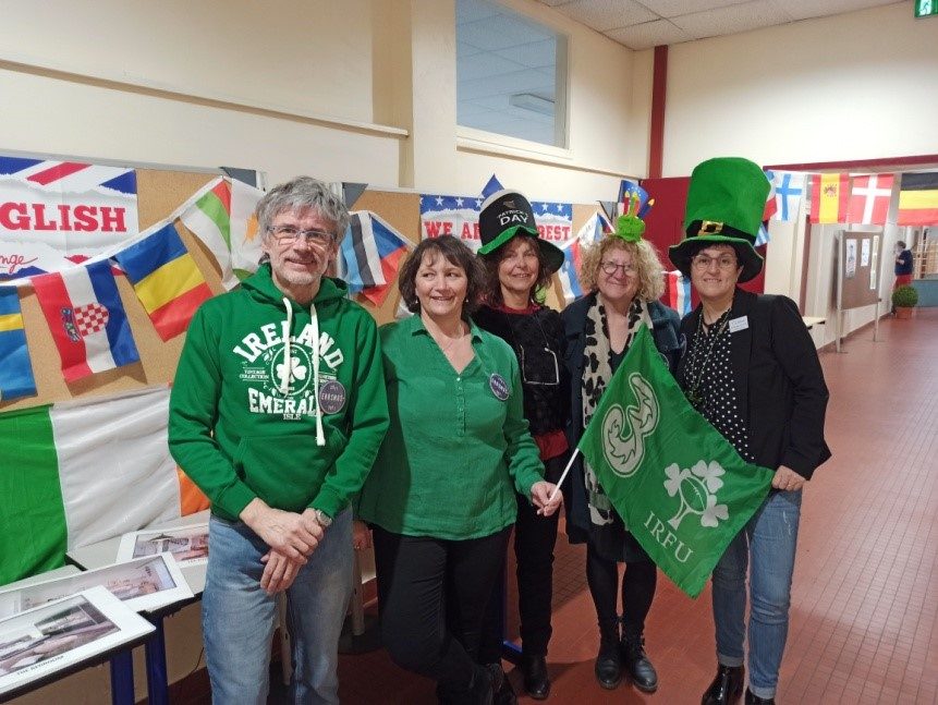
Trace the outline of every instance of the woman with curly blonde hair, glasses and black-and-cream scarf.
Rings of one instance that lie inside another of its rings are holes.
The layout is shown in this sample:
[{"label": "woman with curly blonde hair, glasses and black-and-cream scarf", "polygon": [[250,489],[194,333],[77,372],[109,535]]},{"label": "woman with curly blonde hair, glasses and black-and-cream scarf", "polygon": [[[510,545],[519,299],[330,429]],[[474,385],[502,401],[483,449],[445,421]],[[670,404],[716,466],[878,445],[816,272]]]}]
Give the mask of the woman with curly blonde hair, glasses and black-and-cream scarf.
[{"label": "woman with curly blonde hair, glasses and black-and-cream scarf", "polygon": [[[643,325],[672,372],[681,355],[679,317],[658,301],[665,290],[662,267],[654,247],[643,240],[644,230],[645,223],[635,215],[619,218],[616,232],[584,256],[581,281],[590,293],[561,314],[564,365],[572,379],[567,429],[571,447],[583,436]],[[637,689],[654,692],[658,674],[645,653],[644,630],[655,597],[655,563],[628,531],[582,455],[574,460],[567,487],[567,534],[571,543],[586,543],[586,576],[599,622],[596,679],[611,690],[621,682],[624,667]],[[619,562],[625,563],[621,586]]]}]

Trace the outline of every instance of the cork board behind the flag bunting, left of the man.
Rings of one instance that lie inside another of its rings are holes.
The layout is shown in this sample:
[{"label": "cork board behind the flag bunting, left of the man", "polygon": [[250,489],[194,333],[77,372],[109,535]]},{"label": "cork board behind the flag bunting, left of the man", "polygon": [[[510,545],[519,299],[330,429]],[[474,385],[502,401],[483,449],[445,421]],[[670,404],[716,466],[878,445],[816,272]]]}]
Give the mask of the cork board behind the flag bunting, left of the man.
[{"label": "cork board behind the flag bunting, left of the man", "polygon": [[[218,172],[163,171],[137,169],[137,214],[143,231],[167,218],[198,189],[219,175]],[[208,250],[181,222],[176,230],[195,259],[212,292],[222,291],[220,270]],[[11,401],[0,401],[0,413],[58,401],[99,397],[132,389],[144,389],[171,382],[185,336],[163,342],[150,323],[143,305],[126,277],[114,278],[141,362],[105,373],[98,373],[68,384],[62,377],[61,360],[52,341],[39,302],[31,287],[20,289],[20,305],[26,329],[26,342],[36,378],[37,394]]]}]

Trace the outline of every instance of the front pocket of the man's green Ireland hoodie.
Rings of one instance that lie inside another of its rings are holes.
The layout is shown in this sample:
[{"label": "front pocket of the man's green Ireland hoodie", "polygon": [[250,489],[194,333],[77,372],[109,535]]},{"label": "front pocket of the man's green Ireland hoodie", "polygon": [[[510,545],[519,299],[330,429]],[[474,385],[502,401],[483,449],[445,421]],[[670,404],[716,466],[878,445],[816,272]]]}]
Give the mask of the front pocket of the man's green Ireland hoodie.
[{"label": "front pocket of the man's green Ireland hoodie", "polygon": [[237,446],[235,471],[271,507],[300,511],[322,486],[336,460],[334,447],[317,446],[315,433],[245,437]]}]

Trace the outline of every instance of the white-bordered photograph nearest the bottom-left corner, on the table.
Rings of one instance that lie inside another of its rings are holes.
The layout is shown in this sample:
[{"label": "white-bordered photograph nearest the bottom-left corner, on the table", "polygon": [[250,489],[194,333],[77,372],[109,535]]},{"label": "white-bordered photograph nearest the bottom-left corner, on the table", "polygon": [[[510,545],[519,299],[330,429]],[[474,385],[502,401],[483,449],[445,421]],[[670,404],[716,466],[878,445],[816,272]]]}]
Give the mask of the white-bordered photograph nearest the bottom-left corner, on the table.
[{"label": "white-bordered photograph nearest the bottom-left corner, on the table", "polygon": [[153,631],[100,586],[0,619],[0,695]]}]

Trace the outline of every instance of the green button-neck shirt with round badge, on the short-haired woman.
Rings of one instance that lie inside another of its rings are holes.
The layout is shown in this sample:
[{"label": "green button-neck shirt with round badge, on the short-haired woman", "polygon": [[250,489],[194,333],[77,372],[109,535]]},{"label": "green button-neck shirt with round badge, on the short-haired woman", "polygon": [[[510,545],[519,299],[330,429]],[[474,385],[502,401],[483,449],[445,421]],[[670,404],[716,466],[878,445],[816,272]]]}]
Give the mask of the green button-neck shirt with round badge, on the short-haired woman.
[{"label": "green button-neck shirt with round badge, on the short-haired woman", "polygon": [[517,360],[472,324],[456,373],[419,316],[380,328],[391,425],[357,516],[409,536],[462,540],[512,524],[544,465],[523,416]]}]

